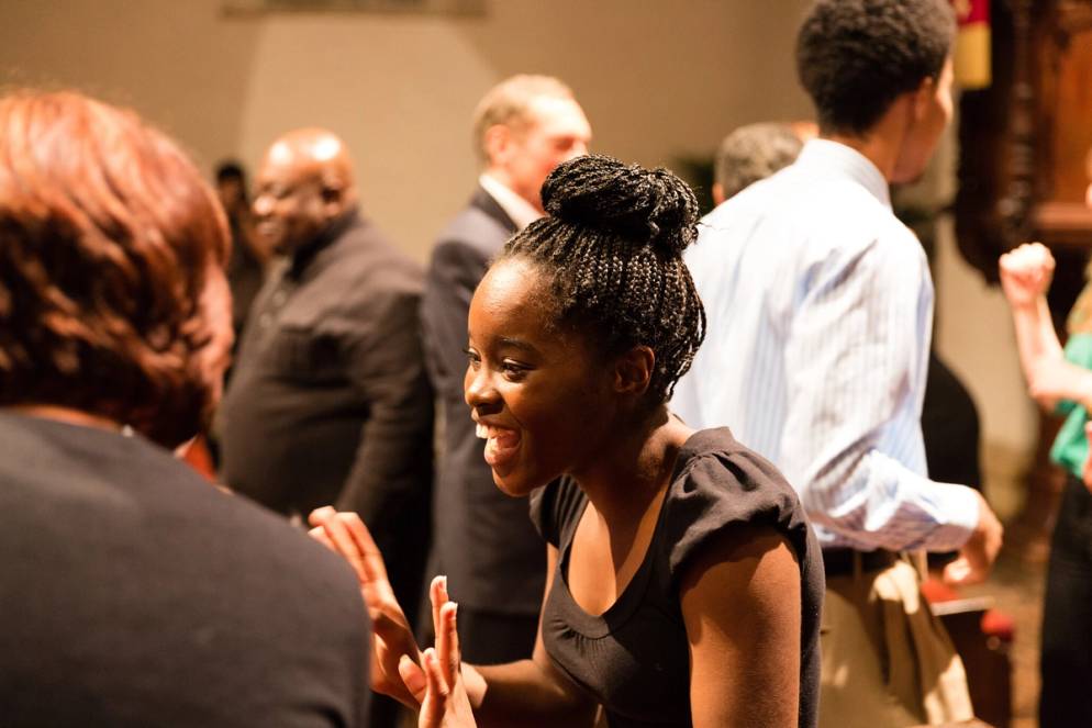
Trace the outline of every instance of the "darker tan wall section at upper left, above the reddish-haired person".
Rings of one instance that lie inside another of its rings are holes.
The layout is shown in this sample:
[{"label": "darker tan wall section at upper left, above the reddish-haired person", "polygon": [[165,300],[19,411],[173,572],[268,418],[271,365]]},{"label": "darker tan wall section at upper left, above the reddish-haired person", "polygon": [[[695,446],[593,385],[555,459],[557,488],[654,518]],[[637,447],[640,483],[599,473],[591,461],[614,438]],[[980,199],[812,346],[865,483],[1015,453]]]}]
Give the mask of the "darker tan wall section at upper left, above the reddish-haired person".
[{"label": "darker tan wall section at upper left, above the reddish-haired person", "polygon": [[254,24],[218,0],[0,0],[0,80],[76,87],[136,108],[200,159],[233,153]]}]

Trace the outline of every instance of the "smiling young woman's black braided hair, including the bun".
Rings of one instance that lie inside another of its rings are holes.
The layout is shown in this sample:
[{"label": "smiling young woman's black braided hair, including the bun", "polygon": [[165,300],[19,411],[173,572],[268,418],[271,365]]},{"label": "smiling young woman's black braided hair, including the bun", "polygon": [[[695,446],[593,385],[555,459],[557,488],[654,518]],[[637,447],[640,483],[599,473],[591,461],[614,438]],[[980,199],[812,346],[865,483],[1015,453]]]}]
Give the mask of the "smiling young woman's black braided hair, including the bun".
[{"label": "smiling young woman's black braided hair, including the bun", "polygon": [[578,157],[543,184],[546,217],[504,247],[553,284],[556,323],[611,356],[644,345],[656,355],[651,402],[671,395],[705,337],[705,311],[682,251],[698,235],[698,201],[667,169]]}]

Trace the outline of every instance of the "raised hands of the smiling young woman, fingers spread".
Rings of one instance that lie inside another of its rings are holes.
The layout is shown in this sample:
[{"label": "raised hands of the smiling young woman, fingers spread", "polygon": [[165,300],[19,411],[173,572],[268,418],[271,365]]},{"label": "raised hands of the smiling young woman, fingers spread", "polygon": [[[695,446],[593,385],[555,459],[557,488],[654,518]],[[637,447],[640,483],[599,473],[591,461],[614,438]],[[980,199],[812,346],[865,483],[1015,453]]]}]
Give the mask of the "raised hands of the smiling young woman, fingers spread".
[{"label": "raised hands of the smiling young woman, fingers spread", "polygon": [[360,517],[323,507],[309,522],[311,536],[344,557],[360,584],[371,619],[371,688],[420,710],[419,728],[475,726],[460,669],[457,605],[448,598],[447,579],[436,576],[428,587],[436,643],[421,651]]}]

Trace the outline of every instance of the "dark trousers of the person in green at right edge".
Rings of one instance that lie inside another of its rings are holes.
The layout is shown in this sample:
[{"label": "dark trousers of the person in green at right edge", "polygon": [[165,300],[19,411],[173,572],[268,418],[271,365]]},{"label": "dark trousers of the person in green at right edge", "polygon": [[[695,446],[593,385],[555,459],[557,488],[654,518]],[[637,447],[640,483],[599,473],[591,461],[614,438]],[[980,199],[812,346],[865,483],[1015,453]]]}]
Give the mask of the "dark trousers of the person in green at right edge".
[{"label": "dark trousers of the person in green at right edge", "polygon": [[1040,728],[1092,726],[1092,493],[1069,475],[1050,542]]}]

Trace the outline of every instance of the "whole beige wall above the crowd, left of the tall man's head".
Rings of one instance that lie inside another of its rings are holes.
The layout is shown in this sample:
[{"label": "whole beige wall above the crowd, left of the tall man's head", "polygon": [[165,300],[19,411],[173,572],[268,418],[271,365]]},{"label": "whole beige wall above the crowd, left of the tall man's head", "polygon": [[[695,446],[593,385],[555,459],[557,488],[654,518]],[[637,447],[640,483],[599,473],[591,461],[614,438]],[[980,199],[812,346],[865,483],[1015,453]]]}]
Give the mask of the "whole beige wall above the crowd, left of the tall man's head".
[{"label": "whole beige wall above the crowd, left of the tall man's head", "polygon": [[476,176],[475,102],[560,76],[597,150],[670,165],[739,123],[809,113],[792,67],[804,0],[492,0],[483,18],[270,14],[223,0],[0,0],[7,81],[87,89],[166,126],[208,168],[281,131],[349,143],[368,212],[417,258]]}]

